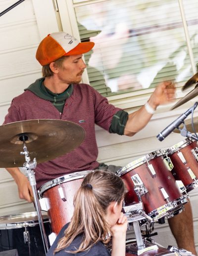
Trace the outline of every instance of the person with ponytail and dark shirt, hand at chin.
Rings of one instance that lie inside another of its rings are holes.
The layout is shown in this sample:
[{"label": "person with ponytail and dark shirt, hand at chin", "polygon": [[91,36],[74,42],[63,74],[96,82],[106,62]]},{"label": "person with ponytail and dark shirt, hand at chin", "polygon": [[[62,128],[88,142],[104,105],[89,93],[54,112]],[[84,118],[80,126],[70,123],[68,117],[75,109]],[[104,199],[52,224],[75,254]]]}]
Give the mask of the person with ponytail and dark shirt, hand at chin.
[{"label": "person with ponytail and dark shirt, hand at chin", "polygon": [[[47,256],[125,256],[127,218],[121,212],[125,186],[106,171],[89,173],[74,197],[74,213]],[[105,245],[112,238],[111,254]]]}]

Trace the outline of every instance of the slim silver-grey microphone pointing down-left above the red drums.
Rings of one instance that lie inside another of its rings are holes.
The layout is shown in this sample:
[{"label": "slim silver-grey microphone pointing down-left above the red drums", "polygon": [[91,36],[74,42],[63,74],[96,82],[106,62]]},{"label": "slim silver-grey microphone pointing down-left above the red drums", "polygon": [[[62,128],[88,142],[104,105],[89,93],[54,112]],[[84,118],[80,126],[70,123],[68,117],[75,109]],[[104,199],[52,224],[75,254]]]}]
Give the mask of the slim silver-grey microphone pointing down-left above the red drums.
[{"label": "slim silver-grey microphone pointing down-left above the red drums", "polygon": [[175,121],[173,121],[169,126],[167,126],[164,130],[162,130],[156,137],[158,140],[162,141],[167,137],[175,128],[178,128],[184,120],[190,115],[195,108],[197,108],[198,102],[194,104],[193,107],[188,109],[184,114],[182,114],[180,117],[178,117]]}]

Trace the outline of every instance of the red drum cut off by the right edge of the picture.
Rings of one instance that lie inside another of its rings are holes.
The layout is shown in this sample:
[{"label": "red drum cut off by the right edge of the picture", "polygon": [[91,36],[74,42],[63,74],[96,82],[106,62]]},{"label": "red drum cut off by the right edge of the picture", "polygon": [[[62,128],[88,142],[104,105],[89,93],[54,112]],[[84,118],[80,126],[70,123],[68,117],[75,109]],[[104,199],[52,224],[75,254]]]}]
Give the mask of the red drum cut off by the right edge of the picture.
[{"label": "red drum cut off by the right edge of the picture", "polygon": [[174,168],[175,180],[181,180],[187,192],[198,187],[198,141],[186,138],[166,151]]}]

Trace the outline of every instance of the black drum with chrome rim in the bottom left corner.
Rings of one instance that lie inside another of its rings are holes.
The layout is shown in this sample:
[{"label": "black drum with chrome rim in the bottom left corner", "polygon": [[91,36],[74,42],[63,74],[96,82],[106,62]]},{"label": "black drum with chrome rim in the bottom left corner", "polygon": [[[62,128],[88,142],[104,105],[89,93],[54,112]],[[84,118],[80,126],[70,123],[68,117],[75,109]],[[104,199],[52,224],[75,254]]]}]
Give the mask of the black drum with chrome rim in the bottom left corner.
[{"label": "black drum with chrome rim in the bottom left corner", "polygon": [[[42,216],[48,238],[51,233],[48,215]],[[37,212],[0,217],[0,252],[12,249],[17,249],[19,256],[46,255]]]}]

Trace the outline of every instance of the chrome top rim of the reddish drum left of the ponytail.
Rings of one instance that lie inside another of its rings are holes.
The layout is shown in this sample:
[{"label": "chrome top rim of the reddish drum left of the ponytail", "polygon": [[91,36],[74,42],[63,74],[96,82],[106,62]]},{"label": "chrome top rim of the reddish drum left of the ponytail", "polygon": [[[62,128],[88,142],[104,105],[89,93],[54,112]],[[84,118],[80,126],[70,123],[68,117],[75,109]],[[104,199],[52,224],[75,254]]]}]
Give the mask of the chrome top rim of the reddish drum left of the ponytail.
[{"label": "chrome top rim of the reddish drum left of the ponytail", "polygon": [[78,171],[74,173],[69,173],[60,177],[57,177],[49,182],[46,182],[43,186],[41,186],[39,193],[41,196],[43,196],[43,193],[49,190],[50,188],[53,188],[57,185],[60,185],[65,182],[73,181],[73,180],[78,180],[85,178],[87,174],[90,172],[94,172],[96,170],[86,170],[86,171]]}]

